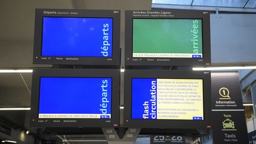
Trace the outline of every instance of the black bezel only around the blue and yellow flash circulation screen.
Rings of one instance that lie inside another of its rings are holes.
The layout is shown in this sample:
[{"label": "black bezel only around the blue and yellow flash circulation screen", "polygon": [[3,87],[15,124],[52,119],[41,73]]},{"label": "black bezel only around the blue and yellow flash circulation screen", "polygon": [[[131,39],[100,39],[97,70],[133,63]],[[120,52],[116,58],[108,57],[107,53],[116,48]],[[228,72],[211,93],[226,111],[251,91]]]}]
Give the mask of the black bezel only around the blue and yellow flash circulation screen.
[{"label": "black bezel only around the blue and yellow flash circulation screen", "polygon": [[[132,78],[203,79],[204,120],[132,119]],[[124,73],[124,127],[208,129],[211,127],[211,84],[209,71],[126,70]]]}]

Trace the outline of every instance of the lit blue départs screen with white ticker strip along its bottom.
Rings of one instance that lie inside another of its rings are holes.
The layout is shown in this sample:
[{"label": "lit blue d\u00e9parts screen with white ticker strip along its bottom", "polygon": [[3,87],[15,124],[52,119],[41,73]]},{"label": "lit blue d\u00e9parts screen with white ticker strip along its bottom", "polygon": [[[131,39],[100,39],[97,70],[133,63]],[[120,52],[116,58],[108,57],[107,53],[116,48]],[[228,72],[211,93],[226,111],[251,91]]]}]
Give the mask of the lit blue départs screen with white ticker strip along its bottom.
[{"label": "lit blue d\u00e9parts screen with white ticker strip along its bottom", "polygon": [[111,119],[111,81],[41,77],[39,119]]}]

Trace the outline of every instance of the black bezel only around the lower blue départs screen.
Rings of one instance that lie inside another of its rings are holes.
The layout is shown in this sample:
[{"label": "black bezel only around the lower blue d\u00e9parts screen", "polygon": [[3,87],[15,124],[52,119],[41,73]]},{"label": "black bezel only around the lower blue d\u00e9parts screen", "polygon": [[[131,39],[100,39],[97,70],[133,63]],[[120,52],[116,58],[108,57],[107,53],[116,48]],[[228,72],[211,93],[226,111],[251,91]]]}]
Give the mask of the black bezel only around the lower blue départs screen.
[{"label": "black bezel only around the lower blue d\u00e9parts screen", "polygon": [[[111,119],[39,119],[41,77],[111,78]],[[33,69],[31,92],[31,127],[118,127],[120,71],[114,69]],[[56,123],[53,120],[60,120]],[[64,122],[76,120],[76,122]]]}]

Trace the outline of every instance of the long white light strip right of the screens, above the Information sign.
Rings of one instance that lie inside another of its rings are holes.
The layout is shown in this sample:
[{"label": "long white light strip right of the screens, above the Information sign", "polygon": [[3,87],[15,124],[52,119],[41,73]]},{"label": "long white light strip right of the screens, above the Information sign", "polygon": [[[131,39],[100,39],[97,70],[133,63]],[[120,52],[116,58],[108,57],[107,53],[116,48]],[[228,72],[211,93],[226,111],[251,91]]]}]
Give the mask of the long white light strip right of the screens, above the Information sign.
[{"label": "long white light strip right of the screens, above the Information sign", "polygon": [[256,69],[256,66],[227,66],[227,67],[193,68],[193,71],[215,71],[215,70],[235,70],[235,69]]}]

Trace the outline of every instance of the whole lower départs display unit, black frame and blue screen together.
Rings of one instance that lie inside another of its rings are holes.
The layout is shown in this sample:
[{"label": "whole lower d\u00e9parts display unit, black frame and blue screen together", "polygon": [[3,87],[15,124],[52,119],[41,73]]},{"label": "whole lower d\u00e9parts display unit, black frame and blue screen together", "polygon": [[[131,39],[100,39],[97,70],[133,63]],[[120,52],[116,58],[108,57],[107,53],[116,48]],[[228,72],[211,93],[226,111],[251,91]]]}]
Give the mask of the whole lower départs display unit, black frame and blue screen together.
[{"label": "whole lower d\u00e9parts display unit, black frame and blue screen together", "polygon": [[119,85],[119,70],[34,69],[31,127],[117,127]]}]

